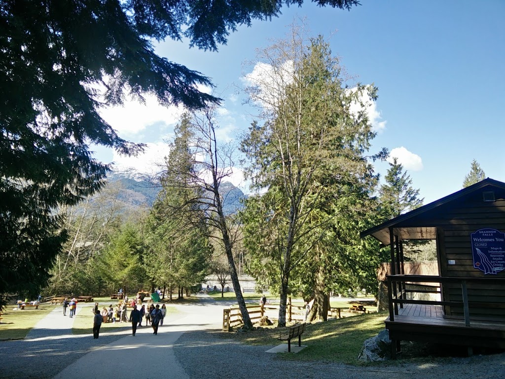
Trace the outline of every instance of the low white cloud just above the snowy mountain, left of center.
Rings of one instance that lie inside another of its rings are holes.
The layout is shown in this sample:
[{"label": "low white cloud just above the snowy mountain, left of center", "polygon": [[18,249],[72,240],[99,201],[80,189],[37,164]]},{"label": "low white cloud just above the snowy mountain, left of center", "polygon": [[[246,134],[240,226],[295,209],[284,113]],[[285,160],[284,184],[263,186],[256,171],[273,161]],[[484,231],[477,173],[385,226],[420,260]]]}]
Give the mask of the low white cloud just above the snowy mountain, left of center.
[{"label": "low white cloud just above the snowy mountain, left of center", "polygon": [[126,157],[114,152],[114,167],[132,167],[138,172],[155,174],[160,172],[165,156],[169,153],[168,145],[164,142],[147,143],[145,152],[137,157]]}]

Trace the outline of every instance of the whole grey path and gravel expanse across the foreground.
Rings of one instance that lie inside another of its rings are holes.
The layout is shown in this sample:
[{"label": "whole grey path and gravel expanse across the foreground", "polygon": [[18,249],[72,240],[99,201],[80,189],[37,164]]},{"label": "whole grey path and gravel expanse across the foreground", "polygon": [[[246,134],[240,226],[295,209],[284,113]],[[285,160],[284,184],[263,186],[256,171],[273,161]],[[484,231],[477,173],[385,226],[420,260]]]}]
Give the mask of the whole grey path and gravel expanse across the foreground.
[{"label": "whole grey path and gravel expanse across the foreground", "polygon": [[[72,336],[72,320],[57,308],[22,341],[0,342],[0,378],[92,378],[123,370],[125,376],[199,379],[231,377],[360,378],[360,379],[502,379],[505,354],[455,358],[443,365],[383,364],[361,368],[320,362],[285,361],[267,354],[275,345],[249,346],[216,337],[227,303],[200,297],[200,303],[177,306],[159,335],[149,328]],[[80,306],[86,311],[89,306]],[[308,344],[310,348],[310,343]],[[141,362],[142,364],[137,364]]]}]

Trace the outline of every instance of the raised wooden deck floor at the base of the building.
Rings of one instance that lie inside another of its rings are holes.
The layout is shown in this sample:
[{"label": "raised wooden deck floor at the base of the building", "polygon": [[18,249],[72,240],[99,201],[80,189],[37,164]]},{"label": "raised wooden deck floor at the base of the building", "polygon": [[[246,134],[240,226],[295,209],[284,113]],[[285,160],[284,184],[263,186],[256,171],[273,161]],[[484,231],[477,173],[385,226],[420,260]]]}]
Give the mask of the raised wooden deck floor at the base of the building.
[{"label": "raised wooden deck floor at the base of the building", "polygon": [[405,304],[394,321],[386,319],[393,341],[505,348],[505,322],[446,318],[441,305]]}]

